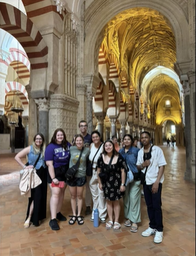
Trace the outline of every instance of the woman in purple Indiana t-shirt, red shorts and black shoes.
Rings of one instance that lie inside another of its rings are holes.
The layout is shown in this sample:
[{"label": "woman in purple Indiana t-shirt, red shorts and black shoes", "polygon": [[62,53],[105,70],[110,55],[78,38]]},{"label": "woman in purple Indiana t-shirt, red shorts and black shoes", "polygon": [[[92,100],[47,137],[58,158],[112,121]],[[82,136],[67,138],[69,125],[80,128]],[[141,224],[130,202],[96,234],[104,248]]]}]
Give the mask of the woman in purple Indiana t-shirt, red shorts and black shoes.
[{"label": "woman in purple Indiana t-shirt, red shorts and black shoes", "polygon": [[[57,220],[65,221],[67,218],[61,214],[64,201],[65,173],[69,168],[69,148],[71,144],[67,141],[64,130],[57,128],[46,147],[45,160],[48,165],[48,183],[51,188],[51,220],[49,226],[52,230],[59,230]],[[57,219],[57,220],[56,220]]]}]

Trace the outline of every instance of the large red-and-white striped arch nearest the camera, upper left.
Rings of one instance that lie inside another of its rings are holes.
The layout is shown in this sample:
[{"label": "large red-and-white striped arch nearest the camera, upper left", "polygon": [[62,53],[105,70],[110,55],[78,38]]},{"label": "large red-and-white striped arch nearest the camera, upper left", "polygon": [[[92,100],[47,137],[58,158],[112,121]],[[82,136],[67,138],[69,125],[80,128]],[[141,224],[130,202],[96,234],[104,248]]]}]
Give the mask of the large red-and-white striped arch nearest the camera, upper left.
[{"label": "large red-and-white striped arch nearest the camera, upper left", "polygon": [[20,42],[33,70],[48,67],[48,46],[41,33],[24,13],[9,4],[0,3],[0,28]]}]

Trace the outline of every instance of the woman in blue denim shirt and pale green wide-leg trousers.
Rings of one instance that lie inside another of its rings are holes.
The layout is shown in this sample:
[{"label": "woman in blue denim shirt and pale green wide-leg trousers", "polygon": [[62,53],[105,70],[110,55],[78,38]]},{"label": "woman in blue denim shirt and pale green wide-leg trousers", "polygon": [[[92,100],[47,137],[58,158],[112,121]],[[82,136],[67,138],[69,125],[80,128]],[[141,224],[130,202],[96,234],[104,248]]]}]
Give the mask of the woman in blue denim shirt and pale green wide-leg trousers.
[{"label": "woman in blue denim shirt and pale green wide-leg trousers", "polygon": [[119,150],[122,154],[127,167],[132,170],[134,181],[129,183],[124,194],[124,217],[126,218],[124,226],[131,227],[130,231],[137,232],[137,223],[141,221],[140,205],[141,205],[141,185],[140,174],[138,173],[136,162],[137,154],[140,149],[132,146],[132,136],[125,134],[123,137],[124,147]]}]

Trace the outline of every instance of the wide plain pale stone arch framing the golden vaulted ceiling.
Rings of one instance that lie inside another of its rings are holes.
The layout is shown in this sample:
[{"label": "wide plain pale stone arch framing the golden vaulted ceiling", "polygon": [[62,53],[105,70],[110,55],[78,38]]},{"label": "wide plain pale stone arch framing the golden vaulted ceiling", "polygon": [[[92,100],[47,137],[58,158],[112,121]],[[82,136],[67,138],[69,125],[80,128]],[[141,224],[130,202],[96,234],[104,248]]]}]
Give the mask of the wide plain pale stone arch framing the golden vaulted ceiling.
[{"label": "wide plain pale stone arch framing the golden vaulted ceiling", "polygon": [[[155,9],[164,15],[171,23],[176,38],[176,59],[177,62],[189,61],[189,28],[187,15],[180,4],[174,0],[113,0],[94,1],[86,10],[85,14],[85,73],[96,73],[95,57],[98,56],[99,46],[103,40],[104,27],[119,12],[134,7],[148,7]],[[95,12],[96,11],[96,12]],[[100,20],[100,13],[103,19]],[[95,52],[96,51],[96,52]],[[98,65],[98,63],[96,64]]]}]

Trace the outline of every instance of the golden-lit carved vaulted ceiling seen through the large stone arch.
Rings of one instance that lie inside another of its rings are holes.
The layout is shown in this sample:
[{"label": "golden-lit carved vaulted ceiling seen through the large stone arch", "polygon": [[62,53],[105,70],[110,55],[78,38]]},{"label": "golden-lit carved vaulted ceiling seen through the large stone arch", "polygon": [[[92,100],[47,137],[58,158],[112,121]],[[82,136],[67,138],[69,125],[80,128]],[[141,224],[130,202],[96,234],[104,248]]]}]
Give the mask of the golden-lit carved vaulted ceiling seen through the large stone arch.
[{"label": "golden-lit carved vaulted ceiling seen through the large stone arch", "polygon": [[170,75],[155,75],[144,91],[141,88],[145,75],[155,67],[174,71],[176,41],[169,20],[160,12],[133,8],[119,13],[105,27],[101,49],[108,63],[109,56],[115,55],[121,77],[127,76],[127,86],[145,94],[142,96],[150,109],[156,111],[158,103],[170,96],[180,111],[179,85]]}]

